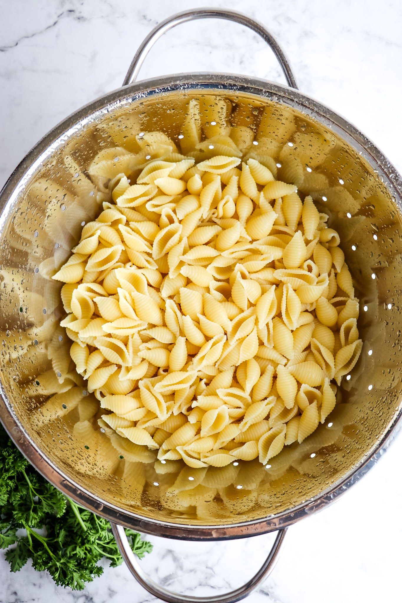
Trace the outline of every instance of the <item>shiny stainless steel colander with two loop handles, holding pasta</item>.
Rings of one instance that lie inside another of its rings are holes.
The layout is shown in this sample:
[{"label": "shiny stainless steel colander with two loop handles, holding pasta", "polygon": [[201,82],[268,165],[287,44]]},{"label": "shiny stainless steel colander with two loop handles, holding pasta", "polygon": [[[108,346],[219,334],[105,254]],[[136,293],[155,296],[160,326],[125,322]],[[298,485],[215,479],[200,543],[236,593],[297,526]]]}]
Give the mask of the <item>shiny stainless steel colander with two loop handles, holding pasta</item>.
[{"label": "shiny stainless steel colander with two loop handles, holding pasta", "polygon": [[[262,36],[289,87],[231,74],[132,83],[155,40],[204,17],[229,19]],[[75,373],[59,326],[60,283],[51,276],[107,191],[107,182],[90,178],[87,166],[102,148],[133,150],[141,131],[161,130],[179,142],[192,98],[225,106],[228,124],[251,128],[256,142],[265,139],[278,178],[297,183],[330,215],[360,298],[363,352],[330,421],[303,444],[287,447],[268,469],[251,461],[207,471],[176,464],[162,473],[152,453],[138,458],[113,446],[99,431],[98,402]],[[401,416],[401,201],[395,168],[353,125],[299,92],[271,34],[246,16],[215,9],[186,11],[155,28],[124,87],[57,125],[11,175],[0,195],[0,418],[52,484],[110,520],[131,572],[153,595],[174,603],[230,603],[247,596],[271,571],[287,526],[336,499],[388,446]],[[121,526],[190,540],[279,532],[245,586],[198,598],[168,592],[146,576]]]}]

